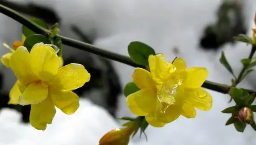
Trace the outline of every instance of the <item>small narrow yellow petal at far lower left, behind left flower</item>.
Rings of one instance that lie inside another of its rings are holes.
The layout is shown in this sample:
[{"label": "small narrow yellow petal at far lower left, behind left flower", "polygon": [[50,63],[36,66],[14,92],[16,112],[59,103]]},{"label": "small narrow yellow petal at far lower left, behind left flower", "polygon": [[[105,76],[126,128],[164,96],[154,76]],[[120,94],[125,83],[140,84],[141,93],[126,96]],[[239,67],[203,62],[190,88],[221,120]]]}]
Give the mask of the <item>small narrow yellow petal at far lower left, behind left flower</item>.
[{"label": "small narrow yellow petal at far lower left, behind left flower", "polygon": [[21,92],[19,90],[18,86],[19,81],[16,81],[15,84],[13,85],[12,89],[9,92],[9,102],[8,104],[18,104],[19,102],[19,97],[21,96]]}]

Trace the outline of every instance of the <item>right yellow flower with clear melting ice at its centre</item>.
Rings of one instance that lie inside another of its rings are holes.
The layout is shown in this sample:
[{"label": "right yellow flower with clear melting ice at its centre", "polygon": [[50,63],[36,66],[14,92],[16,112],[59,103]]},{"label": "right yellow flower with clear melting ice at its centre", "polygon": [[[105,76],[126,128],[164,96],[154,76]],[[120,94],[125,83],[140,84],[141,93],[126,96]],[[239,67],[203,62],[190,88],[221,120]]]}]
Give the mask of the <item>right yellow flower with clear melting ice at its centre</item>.
[{"label": "right yellow flower with clear melting ice at its centre", "polygon": [[140,90],[126,99],[132,113],[145,116],[154,127],[163,127],[180,115],[195,118],[195,108],[211,109],[212,97],[201,88],[208,75],[205,68],[186,69],[182,58],[172,64],[162,54],[150,55],[148,61],[151,73],[136,68],[133,74]]}]

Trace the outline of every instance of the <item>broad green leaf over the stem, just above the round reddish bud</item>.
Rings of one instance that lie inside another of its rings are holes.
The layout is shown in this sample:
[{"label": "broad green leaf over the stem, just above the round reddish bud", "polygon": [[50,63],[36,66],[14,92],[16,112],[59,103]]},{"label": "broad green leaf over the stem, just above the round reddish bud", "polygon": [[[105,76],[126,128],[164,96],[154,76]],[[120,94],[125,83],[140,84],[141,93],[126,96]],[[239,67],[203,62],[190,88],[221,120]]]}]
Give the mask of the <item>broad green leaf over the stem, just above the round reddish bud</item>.
[{"label": "broad green leaf over the stem, just above the round reddish bud", "polygon": [[229,91],[230,96],[234,99],[234,101],[236,102],[236,104],[238,105],[244,105],[244,99],[247,98],[247,96],[249,96],[249,93],[247,90],[244,89],[239,89],[236,87],[232,87]]}]

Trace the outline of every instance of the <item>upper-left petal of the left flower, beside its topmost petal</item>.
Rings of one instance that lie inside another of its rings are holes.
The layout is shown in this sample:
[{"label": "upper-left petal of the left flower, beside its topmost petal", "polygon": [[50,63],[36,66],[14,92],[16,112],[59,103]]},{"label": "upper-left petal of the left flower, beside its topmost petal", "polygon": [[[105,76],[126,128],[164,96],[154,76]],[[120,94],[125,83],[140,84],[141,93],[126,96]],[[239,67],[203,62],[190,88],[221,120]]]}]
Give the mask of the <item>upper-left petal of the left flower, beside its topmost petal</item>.
[{"label": "upper-left petal of the left flower, beside its topmost petal", "polygon": [[30,70],[29,60],[29,52],[24,46],[17,48],[10,58],[10,66],[18,80],[23,84],[28,84],[35,80],[35,76],[32,75]]}]

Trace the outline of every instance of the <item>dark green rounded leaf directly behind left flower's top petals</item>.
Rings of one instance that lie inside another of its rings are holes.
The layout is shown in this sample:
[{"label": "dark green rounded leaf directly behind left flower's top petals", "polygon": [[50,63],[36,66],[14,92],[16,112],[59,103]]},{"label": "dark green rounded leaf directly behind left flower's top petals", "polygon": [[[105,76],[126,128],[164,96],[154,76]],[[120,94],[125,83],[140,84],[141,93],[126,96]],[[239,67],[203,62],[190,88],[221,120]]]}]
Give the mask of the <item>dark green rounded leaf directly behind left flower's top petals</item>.
[{"label": "dark green rounded leaf directly behind left flower's top petals", "polygon": [[34,34],[34,35],[30,35],[29,37],[26,38],[26,40],[24,42],[24,46],[30,52],[32,47],[35,44],[40,43],[40,42],[43,42],[44,44],[51,44],[51,41],[49,41],[49,39],[47,37],[45,37],[44,35]]}]

